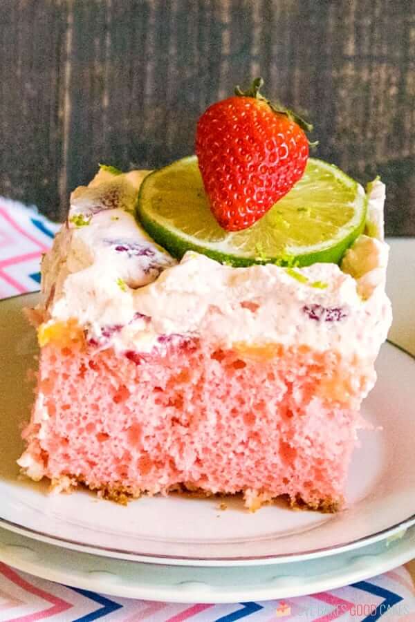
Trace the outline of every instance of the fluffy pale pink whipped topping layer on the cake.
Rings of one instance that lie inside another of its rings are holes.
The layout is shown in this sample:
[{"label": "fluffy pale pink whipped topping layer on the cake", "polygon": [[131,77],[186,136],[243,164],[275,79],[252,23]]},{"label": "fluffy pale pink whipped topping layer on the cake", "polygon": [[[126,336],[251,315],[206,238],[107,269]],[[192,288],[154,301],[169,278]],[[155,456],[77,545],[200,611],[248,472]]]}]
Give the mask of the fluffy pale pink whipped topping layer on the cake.
[{"label": "fluffy pale pink whipped topping layer on the cake", "polygon": [[282,343],[376,357],[391,323],[381,182],[371,187],[365,235],[341,267],[289,270],[234,268],[195,252],[177,263],[133,216],[145,174],[100,171],[71,196],[68,221],[42,263],[48,322],[76,319],[91,343],[118,352],[201,337],[223,348]]}]

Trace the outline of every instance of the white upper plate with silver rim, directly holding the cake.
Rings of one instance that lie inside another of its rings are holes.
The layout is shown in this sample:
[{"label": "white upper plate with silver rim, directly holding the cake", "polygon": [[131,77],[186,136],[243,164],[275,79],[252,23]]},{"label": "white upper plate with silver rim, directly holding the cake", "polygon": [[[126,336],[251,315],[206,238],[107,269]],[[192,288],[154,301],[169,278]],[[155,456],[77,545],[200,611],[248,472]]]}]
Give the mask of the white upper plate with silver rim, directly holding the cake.
[{"label": "white upper plate with silver rim, directly holding the cake", "polygon": [[142,498],[121,507],[87,491],[48,496],[46,484],[17,479],[19,426],[32,393],[24,379],[35,338],[21,308],[36,295],[0,303],[0,525],[20,534],[103,556],[182,565],[290,563],[387,538],[415,523],[415,360],[390,343],[363,414],[382,431],[362,432],[347,487],[347,509],[295,512],[284,505],[254,515],[239,500]]}]

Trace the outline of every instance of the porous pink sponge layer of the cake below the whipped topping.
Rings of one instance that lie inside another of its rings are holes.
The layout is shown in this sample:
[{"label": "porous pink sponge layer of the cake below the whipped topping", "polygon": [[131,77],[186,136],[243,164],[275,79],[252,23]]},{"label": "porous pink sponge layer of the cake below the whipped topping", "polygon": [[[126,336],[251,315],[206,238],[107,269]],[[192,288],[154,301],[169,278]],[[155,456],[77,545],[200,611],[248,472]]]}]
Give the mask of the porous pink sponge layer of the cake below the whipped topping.
[{"label": "porous pink sponge layer of the cake below the whipped topping", "polygon": [[372,374],[308,348],[185,341],[117,355],[48,343],[24,436],[61,487],[83,482],[120,501],[183,488],[242,492],[251,509],[288,495],[335,511]]}]

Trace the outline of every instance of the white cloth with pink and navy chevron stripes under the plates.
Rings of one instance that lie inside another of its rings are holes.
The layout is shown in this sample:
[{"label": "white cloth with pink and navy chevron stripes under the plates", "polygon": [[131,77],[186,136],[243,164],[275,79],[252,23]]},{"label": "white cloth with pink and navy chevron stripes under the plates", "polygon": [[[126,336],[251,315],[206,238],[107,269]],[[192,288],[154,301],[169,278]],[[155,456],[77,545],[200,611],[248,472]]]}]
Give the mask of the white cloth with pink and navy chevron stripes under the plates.
[{"label": "white cloth with pink and navy chevron stripes under the plates", "polygon": [[[35,209],[0,198],[0,299],[39,289],[39,261],[50,247],[57,225]],[[389,601],[387,601],[389,599]],[[248,600],[248,595],[247,599]],[[389,602],[390,611],[382,610]],[[392,603],[392,605],[390,604]],[[17,572],[0,562],[0,622],[88,622],[110,619],[122,622],[233,622],[240,619],[279,619],[360,622],[378,608],[378,617],[415,621],[415,573],[396,568],[370,581],[331,592],[264,603],[185,605],[133,599],[116,599],[93,592],[75,592],[65,585]],[[342,617],[343,616],[343,617]],[[373,617],[372,619],[375,619]]]}]

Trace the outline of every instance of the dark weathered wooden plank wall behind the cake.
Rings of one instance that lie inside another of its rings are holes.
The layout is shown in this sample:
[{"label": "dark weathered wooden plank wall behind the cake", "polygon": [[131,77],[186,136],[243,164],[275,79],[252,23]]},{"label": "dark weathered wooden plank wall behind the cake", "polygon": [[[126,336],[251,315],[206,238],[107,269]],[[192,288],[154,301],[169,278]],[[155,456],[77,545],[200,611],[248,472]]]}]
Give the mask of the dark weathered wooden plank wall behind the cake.
[{"label": "dark weathered wooden plank wall behind the cake", "polygon": [[98,162],[192,153],[201,111],[256,75],[415,235],[415,0],[0,0],[0,194],[62,219]]}]

